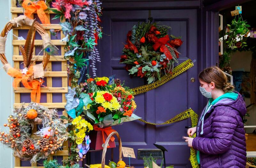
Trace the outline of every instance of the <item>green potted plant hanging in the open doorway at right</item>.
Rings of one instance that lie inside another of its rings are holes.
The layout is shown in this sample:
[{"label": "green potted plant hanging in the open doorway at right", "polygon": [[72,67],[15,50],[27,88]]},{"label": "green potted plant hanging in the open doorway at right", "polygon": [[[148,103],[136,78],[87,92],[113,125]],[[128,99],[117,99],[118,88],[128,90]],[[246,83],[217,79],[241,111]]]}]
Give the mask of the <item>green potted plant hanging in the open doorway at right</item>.
[{"label": "green potted plant hanging in the open doorway at right", "polygon": [[250,32],[248,29],[250,25],[247,24],[246,21],[242,19],[242,17],[238,16],[238,20],[236,20],[236,17],[232,20],[231,25],[228,24],[228,32],[226,35],[228,35],[228,40],[226,41],[227,47],[231,49],[236,48],[244,48],[247,46],[245,42],[245,38],[243,36],[247,36],[247,34]]}]

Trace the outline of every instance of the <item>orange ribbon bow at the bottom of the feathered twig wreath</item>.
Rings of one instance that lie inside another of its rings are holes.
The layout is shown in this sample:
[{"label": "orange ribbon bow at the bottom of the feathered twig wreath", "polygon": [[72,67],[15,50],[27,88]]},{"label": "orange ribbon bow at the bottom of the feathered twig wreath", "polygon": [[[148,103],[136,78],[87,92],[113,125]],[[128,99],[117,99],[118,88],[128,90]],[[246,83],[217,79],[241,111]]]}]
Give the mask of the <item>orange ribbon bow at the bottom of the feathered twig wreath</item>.
[{"label": "orange ribbon bow at the bottom of the feathered twig wreath", "polygon": [[20,70],[15,68],[10,68],[7,72],[8,75],[14,77],[12,86],[13,88],[17,88],[18,84],[21,82],[25,88],[32,89],[31,91],[31,100],[36,103],[40,103],[41,98],[41,88],[40,86],[44,82],[38,80],[28,81],[29,78],[33,75],[33,65],[29,66],[26,74],[20,72]]}]

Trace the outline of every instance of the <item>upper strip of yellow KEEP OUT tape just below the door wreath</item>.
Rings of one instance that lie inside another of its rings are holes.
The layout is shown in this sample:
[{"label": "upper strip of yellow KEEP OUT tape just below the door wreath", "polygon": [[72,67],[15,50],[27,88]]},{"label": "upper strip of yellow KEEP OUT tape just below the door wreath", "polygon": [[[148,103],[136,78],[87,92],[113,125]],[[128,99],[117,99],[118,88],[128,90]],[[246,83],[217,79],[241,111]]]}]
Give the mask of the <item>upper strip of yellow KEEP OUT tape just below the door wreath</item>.
[{"label": "upper strip of yellow KEEP OUT tape just below the door wreath", "polygon": [[163,85],[164,83],[168,82],[172,78],[178,76],[180,73],[183,73],[184,71],[188,70],[192,66],[194,66],[193,62],[191,61],[191,59],[188,59],[188,60],[184,61],[183,63],[181,63],[180,65],[176,66],[173,69],[172,74],[169,73],[168,75],[163,76],[161,78],[161,80],[157,80],[156,82],[148,84],[148,85],[143,85],[143,86],[140,86],[137,88],[132,88],[133,95],[138,95],[140,93],[144,93],[149,90],[155,89],[155,88]]}]

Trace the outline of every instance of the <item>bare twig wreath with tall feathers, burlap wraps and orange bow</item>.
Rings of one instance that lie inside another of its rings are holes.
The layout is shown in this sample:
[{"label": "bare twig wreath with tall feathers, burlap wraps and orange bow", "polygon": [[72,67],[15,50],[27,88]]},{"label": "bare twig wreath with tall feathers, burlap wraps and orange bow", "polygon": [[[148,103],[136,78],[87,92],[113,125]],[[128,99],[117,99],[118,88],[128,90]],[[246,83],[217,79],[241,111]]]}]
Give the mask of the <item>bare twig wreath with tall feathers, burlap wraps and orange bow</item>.
[{"label": "bare twig wreath with tall feathers, burlap wraps and orange bow", "polygon": [[[20,52],[23,56],[24,69],[15,69],[7,61],[5,57],[5,41],[8,32],[14,27],[30,26],[28,31],[27,40],[25,46],[19,46]],[[33,65],[32,55],[34,50],[34,41],[36,31],[42,36],[44,57],[41,64]],[[44,70],[50,59],[50,55],[56,54],[58,48],[51,43],[49,34],[46,33],[44,28],[35,20],[29,19],[24,15],[20,15],[8,22],[2,33],[0,34],[0,60],[4,65],[4,70],[8,75],[14,77],[13,87],[17,88],[18,84],[22,82],[25,88],[32,89],[31,99],[33,102],[40,102],[40,86],[44,82]]]}]

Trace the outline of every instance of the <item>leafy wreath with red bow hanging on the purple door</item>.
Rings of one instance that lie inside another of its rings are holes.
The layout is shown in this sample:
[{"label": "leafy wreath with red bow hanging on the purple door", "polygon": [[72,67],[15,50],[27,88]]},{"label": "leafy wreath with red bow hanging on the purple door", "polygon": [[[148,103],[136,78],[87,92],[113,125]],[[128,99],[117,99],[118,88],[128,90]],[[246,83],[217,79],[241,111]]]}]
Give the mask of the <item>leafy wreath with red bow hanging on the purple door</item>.
[{"label": "leafy wreath with red bow hanging on the purple door", "polygon": [[130,75],[146,77],[148,84],[161,80],[163,75],[172,73],[173,64],[178,63],[181,37],[166,33],[171,27],[150,22],[138,23],[127,34],[127,44],[124,45],[120,63]]}]

